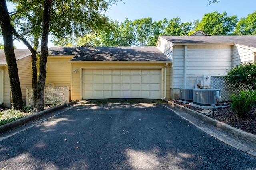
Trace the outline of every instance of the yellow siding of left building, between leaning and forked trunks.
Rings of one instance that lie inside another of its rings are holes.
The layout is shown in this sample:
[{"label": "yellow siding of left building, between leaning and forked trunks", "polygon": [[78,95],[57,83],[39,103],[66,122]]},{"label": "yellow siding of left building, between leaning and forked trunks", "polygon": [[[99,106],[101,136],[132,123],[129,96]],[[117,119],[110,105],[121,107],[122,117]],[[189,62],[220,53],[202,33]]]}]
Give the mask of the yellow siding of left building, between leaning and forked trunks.
[{"label": "yellow siding of left building, between leaning and forked trunks", "polygon": [[17,61],[18,73],[20,78],[20,88],[23,102],[26,102],[26,89],[32,88],[32,68],[31,57],[25,57]]}]

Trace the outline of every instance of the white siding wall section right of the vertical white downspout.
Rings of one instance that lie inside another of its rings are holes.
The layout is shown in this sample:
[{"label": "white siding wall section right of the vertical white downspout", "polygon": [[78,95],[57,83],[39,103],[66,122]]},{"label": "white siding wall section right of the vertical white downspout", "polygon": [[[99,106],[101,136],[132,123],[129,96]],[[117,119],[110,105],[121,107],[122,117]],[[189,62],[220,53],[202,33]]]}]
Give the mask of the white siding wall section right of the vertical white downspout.
[{"label": "white siding wall section right of the vertical white downspout", "polygon": [[231,68],[231,47],[188,47],[187,84],[194,88],[196,77],[225,75]]}]

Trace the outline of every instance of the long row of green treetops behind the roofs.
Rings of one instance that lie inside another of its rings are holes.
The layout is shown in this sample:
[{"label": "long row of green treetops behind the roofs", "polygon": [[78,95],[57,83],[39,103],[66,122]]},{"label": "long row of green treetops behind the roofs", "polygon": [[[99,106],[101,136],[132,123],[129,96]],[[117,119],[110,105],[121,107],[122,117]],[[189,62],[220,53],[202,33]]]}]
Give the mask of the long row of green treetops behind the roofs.
[{"label": "long row of green treetops behind the roofs", "polygon": [[154,22],[150,17],[135,21],[126,18],[121,23],[108,20],[108,29],[87,33],[81,37],[54,37],[52,42],[56,46],[77,46],[78,41],[80,44],[89,43],[94,46],[154,46],[161,35],[191,35],[198,30],[209,35],[256,35],[255,18],[256,11],[240,21],[236,15],[228,16],[226,12],[220,14],[215,11],[204,14],[202,19],[196,19],[193,23],[182,23],[179,17]]}]

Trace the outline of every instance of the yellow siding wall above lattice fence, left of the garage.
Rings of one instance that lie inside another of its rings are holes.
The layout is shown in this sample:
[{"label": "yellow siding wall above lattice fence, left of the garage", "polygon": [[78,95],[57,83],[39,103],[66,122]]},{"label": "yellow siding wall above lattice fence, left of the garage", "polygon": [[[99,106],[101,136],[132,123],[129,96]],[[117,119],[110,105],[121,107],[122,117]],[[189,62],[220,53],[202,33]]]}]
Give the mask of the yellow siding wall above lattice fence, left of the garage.
[{"label": "yellow siding wall above lattice fence, left of the garage", "polygon": [[46,64],[46,82],[45,85],[54,83],[56,86],[69,86],[71,89],[71,64],[70,58],[48,58]]}]

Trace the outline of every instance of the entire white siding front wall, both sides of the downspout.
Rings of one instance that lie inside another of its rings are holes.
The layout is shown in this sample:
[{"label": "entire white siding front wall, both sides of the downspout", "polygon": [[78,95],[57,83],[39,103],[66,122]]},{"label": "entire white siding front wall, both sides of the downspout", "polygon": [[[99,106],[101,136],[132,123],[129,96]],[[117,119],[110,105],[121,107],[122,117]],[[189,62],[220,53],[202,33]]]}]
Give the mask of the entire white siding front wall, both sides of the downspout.
[{"label": "entire white siding front wall, both sides of the downspout", "polygon": [[[174,47],[173,88],[184,87],[184,47]],[[196,77],[225,75],[231,68],[231,47],[187,47],[186,88],[194,88]]]}]

